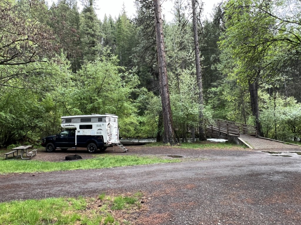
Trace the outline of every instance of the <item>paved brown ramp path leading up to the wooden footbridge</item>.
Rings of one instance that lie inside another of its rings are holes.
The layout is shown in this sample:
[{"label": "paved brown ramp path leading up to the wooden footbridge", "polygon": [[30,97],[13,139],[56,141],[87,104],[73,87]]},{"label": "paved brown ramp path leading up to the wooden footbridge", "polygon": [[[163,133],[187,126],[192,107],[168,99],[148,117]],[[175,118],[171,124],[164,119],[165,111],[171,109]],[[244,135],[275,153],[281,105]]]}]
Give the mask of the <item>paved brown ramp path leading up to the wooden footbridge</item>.
[{"label": "paved brown ramp path leading up to the wooden footbridge", "polygon": [[301,150],[301,146],[287,145],[277,141],[256,138],[246,134],[241,134],[240,138],[252,146],[253,149],[281,149],[281,151],[285,151],[285,149],[287,149],[289,151],[290,149],[300,148]]}]

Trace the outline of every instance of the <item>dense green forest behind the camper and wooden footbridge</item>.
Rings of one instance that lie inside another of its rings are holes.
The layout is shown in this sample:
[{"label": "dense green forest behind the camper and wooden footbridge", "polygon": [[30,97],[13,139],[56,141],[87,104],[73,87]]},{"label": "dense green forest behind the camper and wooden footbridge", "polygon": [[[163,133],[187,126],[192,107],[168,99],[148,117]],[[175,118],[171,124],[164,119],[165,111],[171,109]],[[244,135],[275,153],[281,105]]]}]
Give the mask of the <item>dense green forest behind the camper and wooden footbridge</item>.
[{"label": "dense green forest behind the camper and wooden footbridge", "polygon": [[[93,0],[82,5],[0,0],[0,147],[39,143],[60,131],[61,116],[91,113],[118,115],[124,138],[162,136],[151,1],[136,0],[133,19],[125,10],[97,18]],[[198,1],[202,106],[191,7],[174,0],[163,24],[177,139],[187,141],[202,110],[204,125],[225,119],[300,140],[300,1],[227,0],[209,19]]]}]

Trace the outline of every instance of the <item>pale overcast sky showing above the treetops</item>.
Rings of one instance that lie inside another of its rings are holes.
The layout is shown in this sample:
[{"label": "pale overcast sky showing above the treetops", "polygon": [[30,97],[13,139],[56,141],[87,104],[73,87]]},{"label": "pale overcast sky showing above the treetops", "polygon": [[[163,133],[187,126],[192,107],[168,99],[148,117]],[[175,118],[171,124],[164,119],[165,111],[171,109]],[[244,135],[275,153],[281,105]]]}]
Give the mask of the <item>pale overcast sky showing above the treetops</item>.
[{"label": "pale overcast sky showing above the treetops", "polygon": [[[208,18],[209,13],[211,13],[212,11],[213,5],[219,3],[220,1],[222,0],[203,0],[204,14],[207,15]],[[125,5],[127,15],[133,18],[133,15],[136,11],[134,2],[135,0],[95,0],[95,3],[97,4],[96,8],[98,8],[96,10],[98,19],[103,20],[104,14],[107,14],[107,16],[110,14],[113,18],[118,17],[119,13],[122,10],[123,3]],[[165,15],[166,21],[170,22],[172,20],[172,0],[161,0],[161,2],[162,13]],[[80,7],[80,10],[81,9],[82,7]]]}]

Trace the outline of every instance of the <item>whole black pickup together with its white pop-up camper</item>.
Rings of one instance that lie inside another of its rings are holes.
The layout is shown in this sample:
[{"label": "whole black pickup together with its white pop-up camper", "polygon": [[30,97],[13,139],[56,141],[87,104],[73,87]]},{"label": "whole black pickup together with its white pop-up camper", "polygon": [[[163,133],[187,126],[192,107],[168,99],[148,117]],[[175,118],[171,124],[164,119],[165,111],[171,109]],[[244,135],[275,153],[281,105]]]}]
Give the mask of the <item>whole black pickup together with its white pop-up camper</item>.
[{"label": "whole black pickup together with its white pop-up camper", "polygon": [[60,134],[42,139],[47,152],[55,149],[67,150],[76,147],[87,148],[89,153],[108,146],[119,144],[118,116],[113,114],[92,114],[81,116],[62,116]]}]

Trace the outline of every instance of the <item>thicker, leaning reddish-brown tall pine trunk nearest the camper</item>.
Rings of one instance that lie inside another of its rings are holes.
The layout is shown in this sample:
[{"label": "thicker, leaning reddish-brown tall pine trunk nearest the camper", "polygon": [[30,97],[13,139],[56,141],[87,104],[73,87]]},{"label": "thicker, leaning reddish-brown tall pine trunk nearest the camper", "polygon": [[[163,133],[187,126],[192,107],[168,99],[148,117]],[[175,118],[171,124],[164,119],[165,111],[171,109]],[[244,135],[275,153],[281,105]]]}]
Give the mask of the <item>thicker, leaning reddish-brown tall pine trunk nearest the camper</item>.
[{"label": "thicker, leaning reddish-brown tall pine trunk nearest the camper", "polygon": [[161,101],[163,110],[163,143],[170,143],[171,145],[174,145],[175,143],[177,143],[177,140],[175,138],[175,133],[172,125],[160,0],[154,0],[154,16],[156,26],[158,65],[160,74],[159,80],[161,90]]}]

